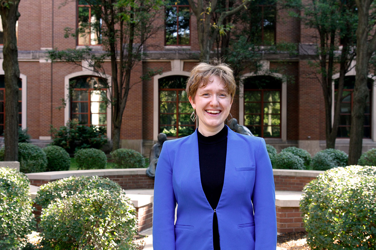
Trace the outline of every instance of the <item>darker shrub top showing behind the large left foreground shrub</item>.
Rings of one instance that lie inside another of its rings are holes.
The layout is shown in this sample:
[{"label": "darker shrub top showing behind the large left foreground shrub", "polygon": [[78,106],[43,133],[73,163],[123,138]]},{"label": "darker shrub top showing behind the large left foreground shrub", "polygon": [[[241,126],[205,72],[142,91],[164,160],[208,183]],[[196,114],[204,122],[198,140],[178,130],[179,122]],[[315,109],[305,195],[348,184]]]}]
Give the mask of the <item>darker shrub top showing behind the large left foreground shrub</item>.
[{"label": "darker shrub top showing behind the large left foreground shrub", "polygon": [[98,176],[71,176],[42,185],[35,198],[35,203],[47,207],[55,199],[63,199],[81,193],[84,190],[105,189],[120,192],[121,187],[108,178]]}]

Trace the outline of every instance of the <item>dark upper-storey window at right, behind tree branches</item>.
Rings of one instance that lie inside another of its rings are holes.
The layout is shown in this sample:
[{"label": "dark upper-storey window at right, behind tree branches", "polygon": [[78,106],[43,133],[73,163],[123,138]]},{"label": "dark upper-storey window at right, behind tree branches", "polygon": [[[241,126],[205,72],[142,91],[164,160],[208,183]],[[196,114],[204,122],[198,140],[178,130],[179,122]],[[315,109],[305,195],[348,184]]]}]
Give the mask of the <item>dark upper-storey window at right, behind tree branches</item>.
[{"label": "dark upper-storey window at right, behind tree branches", "polygon": [[276,41],[275,0],[255,0],[249,7],[249,28],[253,43],[273,45]]}]

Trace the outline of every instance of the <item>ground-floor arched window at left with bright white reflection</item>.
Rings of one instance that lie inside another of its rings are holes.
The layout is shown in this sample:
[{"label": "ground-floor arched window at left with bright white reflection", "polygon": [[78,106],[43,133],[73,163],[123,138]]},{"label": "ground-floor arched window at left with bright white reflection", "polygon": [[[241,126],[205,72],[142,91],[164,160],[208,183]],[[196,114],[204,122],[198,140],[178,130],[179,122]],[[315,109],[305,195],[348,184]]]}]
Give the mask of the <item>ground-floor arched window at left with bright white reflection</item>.
[{"label": "ground-floor arched window at left with bright white reflection", "polygon": [[106,80],[95,76],[79,76],[70,79],[69,84],[71,120],[106,127]]}]

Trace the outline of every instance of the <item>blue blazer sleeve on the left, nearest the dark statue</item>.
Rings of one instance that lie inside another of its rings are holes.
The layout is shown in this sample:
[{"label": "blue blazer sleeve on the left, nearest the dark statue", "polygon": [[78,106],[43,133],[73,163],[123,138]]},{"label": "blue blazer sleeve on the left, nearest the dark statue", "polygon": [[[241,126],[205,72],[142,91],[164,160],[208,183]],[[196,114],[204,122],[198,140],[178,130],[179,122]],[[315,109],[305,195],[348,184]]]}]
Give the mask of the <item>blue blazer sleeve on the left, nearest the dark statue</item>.
[{"label": "blue blazer sleeve on the left, nearest the dark statue", "polygon": [[172,165],[167,144],[159,155],[155,170],[153,205],[153,249],[175,249],[175,207],[176,199],[172,184]]}]

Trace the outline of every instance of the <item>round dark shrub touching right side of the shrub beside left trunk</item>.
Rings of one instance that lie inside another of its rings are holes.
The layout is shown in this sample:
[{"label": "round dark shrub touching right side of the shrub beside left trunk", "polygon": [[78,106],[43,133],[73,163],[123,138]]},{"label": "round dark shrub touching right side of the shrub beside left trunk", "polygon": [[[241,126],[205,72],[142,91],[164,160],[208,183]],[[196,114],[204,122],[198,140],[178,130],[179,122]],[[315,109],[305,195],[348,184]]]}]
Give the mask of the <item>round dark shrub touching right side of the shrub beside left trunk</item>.
[{"label": "round dark shrub touching right side of the shrub beside left trunk", "polygon": [[64,148],[59,146],[47,146],[43,148],[47,156],[46,171],[64,171],[69,170],[70,159],[69,154]]}]

